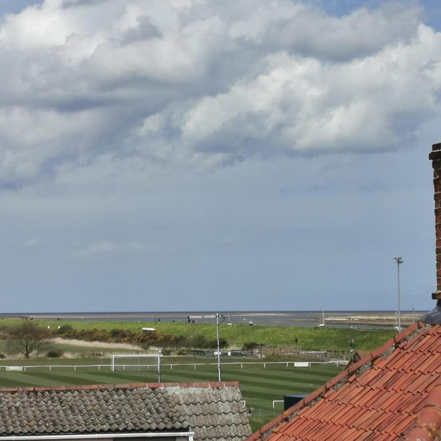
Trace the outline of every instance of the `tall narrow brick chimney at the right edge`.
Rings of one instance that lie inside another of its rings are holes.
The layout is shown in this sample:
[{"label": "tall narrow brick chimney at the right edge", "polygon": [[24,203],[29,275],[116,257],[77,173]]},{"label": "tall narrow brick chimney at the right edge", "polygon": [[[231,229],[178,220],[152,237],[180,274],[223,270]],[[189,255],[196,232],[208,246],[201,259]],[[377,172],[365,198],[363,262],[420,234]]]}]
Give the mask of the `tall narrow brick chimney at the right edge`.
[{"label": "tall narrow brick chimney at the right edge", "polygon": [[432,298],[437,300],[437,306],[421,318],[429,324],[441,323],[441,143],[432,146],[429,154],[433,168],[433,186],[435,199],[435,234],[437,253],[437,290],[432,293]]}]

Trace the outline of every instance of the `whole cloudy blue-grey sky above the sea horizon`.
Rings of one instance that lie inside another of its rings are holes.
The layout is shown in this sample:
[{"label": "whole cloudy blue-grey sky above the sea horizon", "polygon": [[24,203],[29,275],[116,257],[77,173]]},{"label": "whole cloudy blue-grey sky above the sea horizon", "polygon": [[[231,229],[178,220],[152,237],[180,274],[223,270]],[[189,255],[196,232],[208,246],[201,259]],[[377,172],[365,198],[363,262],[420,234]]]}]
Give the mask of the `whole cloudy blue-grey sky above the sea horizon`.
[{"label": "whole cloudy blue-grey sky above the sea horizon", "polygon": [[1,312],[435,305],[438,1],[0,0]]}]

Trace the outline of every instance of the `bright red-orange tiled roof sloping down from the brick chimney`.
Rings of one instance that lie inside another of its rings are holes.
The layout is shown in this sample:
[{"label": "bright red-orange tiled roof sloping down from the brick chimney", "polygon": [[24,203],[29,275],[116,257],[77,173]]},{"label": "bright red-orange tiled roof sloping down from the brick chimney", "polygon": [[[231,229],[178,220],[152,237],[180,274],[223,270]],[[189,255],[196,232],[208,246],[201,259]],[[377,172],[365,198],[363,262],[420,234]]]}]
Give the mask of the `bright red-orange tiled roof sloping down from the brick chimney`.
[{"label": "bright red-orange tiled roof sloping down from the brick chimney", "polygon": [[441,429],[441,325],[414,323],[248,441],[432,440]]}]

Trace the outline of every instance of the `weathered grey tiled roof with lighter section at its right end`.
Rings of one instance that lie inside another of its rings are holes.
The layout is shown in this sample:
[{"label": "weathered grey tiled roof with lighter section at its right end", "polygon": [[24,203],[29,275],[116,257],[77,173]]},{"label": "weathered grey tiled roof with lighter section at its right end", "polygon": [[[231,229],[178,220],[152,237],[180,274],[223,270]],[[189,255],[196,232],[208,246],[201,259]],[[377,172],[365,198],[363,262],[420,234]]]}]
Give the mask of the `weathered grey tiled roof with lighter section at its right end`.
[{"label": "weathered grey tiled roof with lighter section at its right end", "polygon": [[195,440],[251,434],[239,385],[135,385],[0,389],[0,435],[192,431]]}]

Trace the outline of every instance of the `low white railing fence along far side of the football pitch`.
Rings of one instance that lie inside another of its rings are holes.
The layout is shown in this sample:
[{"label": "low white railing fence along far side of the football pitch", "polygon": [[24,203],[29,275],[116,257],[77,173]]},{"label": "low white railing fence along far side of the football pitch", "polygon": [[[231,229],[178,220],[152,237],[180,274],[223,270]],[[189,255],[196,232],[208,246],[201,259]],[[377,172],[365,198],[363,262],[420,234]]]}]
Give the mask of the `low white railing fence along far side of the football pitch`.
[{"label": "low white railing fence along far side of the football pitch", "polygon": [[[337,361],[332,361],[332,362],[226,362],[226,363],[221,363],[222,366],[239,366],[241,367],[241,369],[246,367],[249,367],[250,365],[260,365],[261,367],[263,366],[263,368],[266,368],[267,365],[284,365],[287,368],[289,368],[290,366],[294,367],[294,368],[306,368],[306,367],[310,367],[311,365],[336,365],[338,366],[345,366],[347,364],[347,362],[345,360],[337,360]],[[195,369],[199,366],[217,366],[217,363],[173,363],[173,364],[162,364],[162,370],[164,371],[165,368],[170,368],[173,369],[173,367],[179,367],[179,366],[191,366],[194,367]],[[120,370],[134,370],[134,368],[140,369],[140,368],[145,368],[146,370],[149,370],[150,368],[154,368],[154,369],[158,369],[158,365],[154,364],[154,365],[129,365],[129,364],[125,364],[125,365],[115,365],[118,366],[120,368]],[[26,369],[34,369],[34,368],[47,368],[49,371],[51,371],[54,368],[73,368],[74,371],[76,371],[76,369],[78,368],[98,368],[98,370],[101,369],[106,369],[106,370],[111,370],[112,365],[106,365],[106,364],[102,364],[102,365],[35,365],[35,366],[0,366],[0,372],[1,371],[26,371]]]}]

